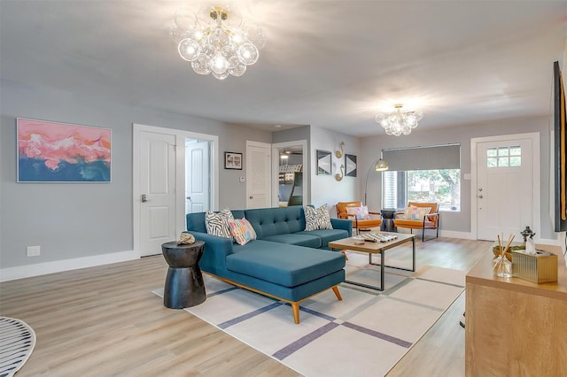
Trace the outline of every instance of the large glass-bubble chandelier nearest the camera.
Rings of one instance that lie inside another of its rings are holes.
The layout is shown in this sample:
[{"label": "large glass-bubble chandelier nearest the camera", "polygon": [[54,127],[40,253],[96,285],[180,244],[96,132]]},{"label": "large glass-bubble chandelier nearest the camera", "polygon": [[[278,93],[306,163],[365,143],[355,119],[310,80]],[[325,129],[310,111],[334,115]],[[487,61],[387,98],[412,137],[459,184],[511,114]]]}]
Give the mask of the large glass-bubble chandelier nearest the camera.
[{"label": "large glass-bubble chandelier nearest the camera", "polygon": [[213,73],[219,80],[245,74],[266,44],[260,27],[245,27],[236,10],[221,6],[206,6],[197,14],[179,9],[169,36],[196,73]]}]

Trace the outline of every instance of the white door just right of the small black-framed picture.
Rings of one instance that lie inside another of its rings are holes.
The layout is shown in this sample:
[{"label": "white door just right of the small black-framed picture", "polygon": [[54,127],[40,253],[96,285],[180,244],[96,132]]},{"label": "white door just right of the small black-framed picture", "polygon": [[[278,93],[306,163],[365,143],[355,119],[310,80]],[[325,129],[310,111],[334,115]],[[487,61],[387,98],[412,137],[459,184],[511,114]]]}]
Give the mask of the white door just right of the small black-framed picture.
[{"label": "white door just right of the small black-framed picture", "polygon": [[271,206],[271,145],[246,142],[246,208]]}]

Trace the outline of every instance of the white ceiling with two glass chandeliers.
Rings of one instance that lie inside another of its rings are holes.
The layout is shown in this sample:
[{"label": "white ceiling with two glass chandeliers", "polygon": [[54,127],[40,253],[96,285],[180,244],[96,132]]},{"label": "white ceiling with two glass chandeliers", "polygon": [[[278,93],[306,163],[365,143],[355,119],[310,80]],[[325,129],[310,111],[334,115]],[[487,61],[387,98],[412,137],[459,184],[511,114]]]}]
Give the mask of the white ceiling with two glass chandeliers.
[{"label": "white ceiling with two glass chandeliers", "polygon": [[169,38],[182,5],[0,0],[1,77],[270,130],[382,135],[374,118],[398,103],[424,112],[421,129],[550,114],[567,39],[566,1],[242,0],[268,42],[243,77],[217,81]]}]

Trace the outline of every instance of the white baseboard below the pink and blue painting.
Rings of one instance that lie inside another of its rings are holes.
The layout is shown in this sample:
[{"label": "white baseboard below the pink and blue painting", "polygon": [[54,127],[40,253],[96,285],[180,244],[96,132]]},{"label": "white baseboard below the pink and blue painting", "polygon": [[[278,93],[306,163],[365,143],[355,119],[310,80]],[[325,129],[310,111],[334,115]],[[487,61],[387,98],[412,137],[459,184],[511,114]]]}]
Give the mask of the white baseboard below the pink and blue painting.
[{"label": "white baseboard below the pink and blue painting", "polygon": [[38,263],[36,265],[19,265],[17,267],[0,269],[0,281],[13,281],[47,273],[60,273],[62,271],[76,270],[78,268],[93,267],[95,265],[110,265],[112,263],[139,258],[139,252],[128,250],[92,257],[56,260],[53,262]]}]

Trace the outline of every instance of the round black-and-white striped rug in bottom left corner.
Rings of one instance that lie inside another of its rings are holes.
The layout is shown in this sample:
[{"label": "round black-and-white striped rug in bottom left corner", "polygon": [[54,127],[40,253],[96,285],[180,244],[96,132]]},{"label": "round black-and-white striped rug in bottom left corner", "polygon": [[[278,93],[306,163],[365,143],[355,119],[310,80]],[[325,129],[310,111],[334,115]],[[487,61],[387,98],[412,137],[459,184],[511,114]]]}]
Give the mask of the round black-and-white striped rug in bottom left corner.
[{"label": "round black-and-white striped rug in bottom left corner", "polygon": [[19,371],[35,347],[35,332],[20,319],[0,317],[0,377]]}]

